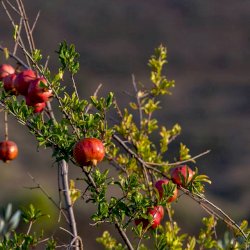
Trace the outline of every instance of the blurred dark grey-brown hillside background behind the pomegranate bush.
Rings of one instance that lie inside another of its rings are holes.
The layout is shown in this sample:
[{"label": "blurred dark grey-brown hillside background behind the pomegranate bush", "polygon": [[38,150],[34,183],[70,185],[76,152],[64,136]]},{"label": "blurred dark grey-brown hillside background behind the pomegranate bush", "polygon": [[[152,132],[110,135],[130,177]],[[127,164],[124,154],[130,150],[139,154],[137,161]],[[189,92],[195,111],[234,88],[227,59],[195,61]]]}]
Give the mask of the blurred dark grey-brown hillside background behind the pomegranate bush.
[{"label": "blurred dark grey-brown hillside background behind the pomegranate bush", "polygon": [[[167,77],[175,79],[176,87],[173,95],[162,99],[157,117],[167,127],[182,126],[174,144],[185,143],[193,156],[211,149],[197,161],[200,173],[213,182],[207,186],[207,197],[237,222],[250,218],[249,1],[36,0],[24,4],[30,20],[41,11],[34,36],[37,48],[50,55],[52,71],[59,65],[58,44],[66,40],[76,45],[81,55],[76,81],[82,98],[88,98],[102,83],[100,95],[114,91],[123,107],[128,99],[124,91],[132,89],[131,75],[147,84],[147,60],[155,47],[166,45]],[[0,43],[11,47],[12,29],[2,8],[0,22]],[[3,113],[0,116],[3,138]],[[51,214],[43,223],[57,234],[53,228],[57,211],[40,190],[27,188],[36,185],[30,173],[58,199],[51,152],[39,149],[38,153],[32,135],[11,118],[9,126],[10,139],[17,142],[20,154],[8,165],[0,163],[0,205],[37,203]],[[72,178],[79,175],[72,169]],[[79,203],[78,227],[86,249],[98,249],[95,237],[107,225],[97,230],[89,226],[92,207]],[[175,207],[182,232],[196,233],[205,215],[201,208],[184,197]]]}]

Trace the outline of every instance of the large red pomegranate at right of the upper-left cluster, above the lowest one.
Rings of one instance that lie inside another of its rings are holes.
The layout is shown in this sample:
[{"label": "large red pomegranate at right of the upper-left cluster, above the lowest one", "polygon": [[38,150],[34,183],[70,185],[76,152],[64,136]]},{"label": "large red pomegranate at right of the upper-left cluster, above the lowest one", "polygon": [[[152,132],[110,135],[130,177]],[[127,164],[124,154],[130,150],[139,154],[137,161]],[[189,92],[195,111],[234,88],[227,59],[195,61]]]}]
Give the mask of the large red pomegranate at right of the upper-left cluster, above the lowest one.
[{"label": "large red pomegranate at right of the upper-left cluster, above the lowest one", "polygon": [[28,88],[28,97],[31,102],[47,102],[52,96],[52,90],[47,89],[46,87],[41,87],[41,82],[47,85],[47,81],[44,78],[37,78],[30,82]]}]

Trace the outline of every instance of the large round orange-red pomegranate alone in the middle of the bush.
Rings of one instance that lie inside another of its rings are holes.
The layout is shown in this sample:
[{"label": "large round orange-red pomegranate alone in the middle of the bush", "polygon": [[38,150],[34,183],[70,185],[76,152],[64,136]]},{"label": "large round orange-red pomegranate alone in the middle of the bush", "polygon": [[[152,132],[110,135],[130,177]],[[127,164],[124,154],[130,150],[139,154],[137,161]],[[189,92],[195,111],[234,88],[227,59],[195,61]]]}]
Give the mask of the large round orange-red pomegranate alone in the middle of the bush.
[{"label": "large round orange-red pomegranate alone in the middle of the bush", "polygon": [[73,157],[80,166],[90,166],[103,160],[105,148],[97,138],[84,138],[73,148]]}]

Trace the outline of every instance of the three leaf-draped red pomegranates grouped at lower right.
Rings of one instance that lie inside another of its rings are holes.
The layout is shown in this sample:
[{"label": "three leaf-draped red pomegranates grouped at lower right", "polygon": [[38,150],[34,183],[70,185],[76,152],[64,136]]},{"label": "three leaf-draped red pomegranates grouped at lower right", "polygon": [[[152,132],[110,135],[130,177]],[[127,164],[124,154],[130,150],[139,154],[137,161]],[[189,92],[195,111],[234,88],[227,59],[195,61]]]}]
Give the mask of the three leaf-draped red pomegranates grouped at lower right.
[{"label": "three leaf-draped red pomegranates grouped at lower right", "polygon": [[[181,165],[181,166],[174,168],[171,171],[171,180],[177,186],[186,187],[192,180],[194,174],[195,172],[191,168],[189,168],[187,165]],[[161,179],[155,183],[155,188],[157,192],[159,193],[159,199],[163,198],[163,195],[164,195],[163,185],[167,185],[168,182],[169,182],[169,179]],[[177,186],[175,187],[173,191],[173,195],[168,197],[167,202],[170,203],[177,199],[177,196],[178,196]],[[135,224],[139,225],[140,223],[142,223],[143,229],[147,227],[155,229],[160,225],[161,220],[164,217],[164,208],[163,206],[154,206],[152,208],[148,208],[147,215],[151,216],[150,220],[139,218],[135,220]]]}]

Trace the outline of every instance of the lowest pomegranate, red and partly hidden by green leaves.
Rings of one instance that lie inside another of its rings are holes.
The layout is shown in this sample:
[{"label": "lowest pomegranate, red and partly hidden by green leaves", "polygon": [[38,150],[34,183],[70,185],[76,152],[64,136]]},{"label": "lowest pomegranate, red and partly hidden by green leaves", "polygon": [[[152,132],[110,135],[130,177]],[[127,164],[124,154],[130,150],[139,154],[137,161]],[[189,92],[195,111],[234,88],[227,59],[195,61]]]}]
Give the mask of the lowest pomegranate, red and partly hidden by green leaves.
[{"label": "lowest pomegranate, red and partly hidden by green leaves", "polygon": [[148,215],[152,216],[152,220],[149,221],[144,218],[135,219],[135,225],[139,225],[142,222],[142,228],[145,229],[149,226],[149,223],[151,222],[150,228],[155,229],[161,224],[161,220],[164,216],[164,209],[162,206],[155,206],[153,208],[148,208],[147,211]]}]

